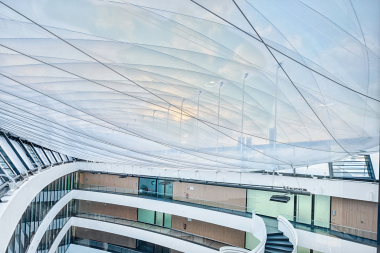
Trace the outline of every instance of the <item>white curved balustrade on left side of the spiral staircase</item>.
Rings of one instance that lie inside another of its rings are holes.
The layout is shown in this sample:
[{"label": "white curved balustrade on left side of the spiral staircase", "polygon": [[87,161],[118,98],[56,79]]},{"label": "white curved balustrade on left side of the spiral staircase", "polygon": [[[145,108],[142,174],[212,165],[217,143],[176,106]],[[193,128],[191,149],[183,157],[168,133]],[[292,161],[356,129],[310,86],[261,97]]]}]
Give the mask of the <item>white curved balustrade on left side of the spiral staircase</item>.
[{"label": "white curved balustrade on left side of the spiral staircase", "polygon": [[222,247],[219,252],[222,253],[264,253],[265,244],[267,242],[267,228],[264,220],[252,212],[252,235],[256,237],[260,243],[253,249],[247,250],[239,247]]}]

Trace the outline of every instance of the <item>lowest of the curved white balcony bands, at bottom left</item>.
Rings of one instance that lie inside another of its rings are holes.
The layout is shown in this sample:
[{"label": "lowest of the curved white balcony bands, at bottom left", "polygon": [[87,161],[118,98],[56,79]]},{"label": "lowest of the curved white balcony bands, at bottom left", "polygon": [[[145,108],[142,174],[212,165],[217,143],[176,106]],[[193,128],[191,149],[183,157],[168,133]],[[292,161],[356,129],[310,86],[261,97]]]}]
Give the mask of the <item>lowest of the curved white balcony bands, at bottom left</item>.
[{"label": "lowest of the curved white balcony bands, at bottom left", "polygon": [[[118,234],[122,236],[128,236],[135,239],[151,242],[154,244],[158,244],[161,246],[164,246],[166,248],[171,248],[175,250],[179,250],[181,252],[186,253],[215,253],[218,252],[217,250],[213,250],[195,243],[191,243],[185,240],[181,240],[178,238],[174,238],[171,236],[166,236],[163,234],[158,234],[155,232],[133,228],[133,227],[127,227],[119,224],[113,224],[108,223],[104,221],[97,221],[97,220],[89,220],[89,219],[82,219],[73,217],[70,219],[70,225],[71,226],[77,226],[87,229],[96,229],[99,231],[107,232],[107,233],[113,233]],[[58,234],[56,240],[54,241],[53,245],[51,246],[49,253],[54,253],[57,249],[57,246],[61,242],[62,238],[66,234],[67,230],[69,229],[68,226],[65,226],[64,229],[61,230],[61,232]]]}]

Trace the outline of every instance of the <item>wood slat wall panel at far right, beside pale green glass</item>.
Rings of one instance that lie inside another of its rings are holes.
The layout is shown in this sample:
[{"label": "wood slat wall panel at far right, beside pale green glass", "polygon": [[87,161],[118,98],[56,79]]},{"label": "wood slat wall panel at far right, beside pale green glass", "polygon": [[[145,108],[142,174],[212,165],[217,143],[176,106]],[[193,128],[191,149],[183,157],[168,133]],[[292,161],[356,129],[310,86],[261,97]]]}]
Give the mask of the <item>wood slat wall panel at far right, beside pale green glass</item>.
[{"label": "wood slat wall panel at far right, beside pale green glass", "polygon": [[377,203],[332,197],[331,223],[377,232]]}]

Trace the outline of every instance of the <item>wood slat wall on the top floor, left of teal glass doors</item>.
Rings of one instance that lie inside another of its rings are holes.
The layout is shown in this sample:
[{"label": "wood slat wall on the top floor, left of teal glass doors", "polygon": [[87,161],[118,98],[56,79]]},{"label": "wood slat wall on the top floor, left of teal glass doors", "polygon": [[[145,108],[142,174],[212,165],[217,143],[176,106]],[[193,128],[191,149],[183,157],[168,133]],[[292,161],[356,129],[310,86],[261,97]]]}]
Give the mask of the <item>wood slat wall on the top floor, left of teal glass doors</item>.
[{"label": "wood slat wall on the top floor, left of teal glass doors", "polygon": [[92,174],[90,172],[81,172],[79,175],[79,183],[134,189],[137,193],[139,179],[137,177],[120,178],[117,175]]}]

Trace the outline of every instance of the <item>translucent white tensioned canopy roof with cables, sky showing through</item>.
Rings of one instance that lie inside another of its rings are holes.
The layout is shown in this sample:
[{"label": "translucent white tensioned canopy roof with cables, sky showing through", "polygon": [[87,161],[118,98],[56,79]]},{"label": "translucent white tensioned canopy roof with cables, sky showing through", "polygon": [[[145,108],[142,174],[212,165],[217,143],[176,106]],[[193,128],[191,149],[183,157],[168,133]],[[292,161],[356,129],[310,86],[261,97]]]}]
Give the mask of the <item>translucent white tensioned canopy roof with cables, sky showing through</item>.
[{"label": "translucent white tensioned canopy roof with cables, sky showing through", "polygon": [[379,1],[0,0],[0,127],[70,156],[272,170],[379,145]]}]

